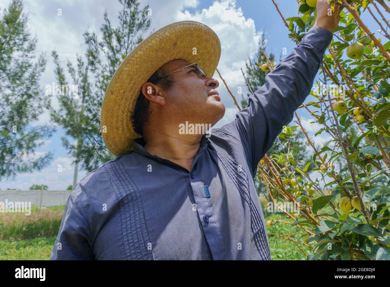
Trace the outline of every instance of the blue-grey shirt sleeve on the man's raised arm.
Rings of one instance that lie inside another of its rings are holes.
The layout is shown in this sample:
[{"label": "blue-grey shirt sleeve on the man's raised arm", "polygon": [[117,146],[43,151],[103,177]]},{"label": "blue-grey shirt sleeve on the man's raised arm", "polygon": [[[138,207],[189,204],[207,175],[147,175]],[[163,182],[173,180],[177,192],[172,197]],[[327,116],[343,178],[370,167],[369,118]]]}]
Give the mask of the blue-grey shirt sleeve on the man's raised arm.
[{"label": "blue-grey shirt sleeve on the man's raised arm", "polygon": [[332,37],[330,31],[312,27],[287,58],[266,75],[266,83],[249,97],[248,107],[218,129],[240,138],[253,176],[260,159],[310,93]]}]

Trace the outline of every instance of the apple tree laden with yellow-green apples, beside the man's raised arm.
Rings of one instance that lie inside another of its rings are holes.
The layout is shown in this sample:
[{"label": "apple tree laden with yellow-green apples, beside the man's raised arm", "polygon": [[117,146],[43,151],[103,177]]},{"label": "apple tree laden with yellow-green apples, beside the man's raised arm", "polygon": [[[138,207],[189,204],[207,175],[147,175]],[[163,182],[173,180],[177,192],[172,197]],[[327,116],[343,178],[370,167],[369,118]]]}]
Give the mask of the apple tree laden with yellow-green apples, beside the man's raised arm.
[{"label": "apple tree laden with yellow-green apples, beside the man's raised arm", "polygon": [[[289,37],[299,43],[316,20],[316,0],[297,0],[296,13],[289,18],[272,1]],[[310,163],[291,153],[264,156],[257,178],[273,204],[291,218],[267,225],[301,228],[294,240],[310,248],[310,253],[300,249],[308,260],[390,260],[390,8],[383,0],[328,3],[332,11],[335,5],[344,9],[319,79],[300,109],[321,127],[314,136],[330,140],[315,146],[295,113],[314,168],[310,171]],[[371,30],[362,14],[381,29]],[[266,72],[275,68],[271,61],[264,64]],[[286,127],[280,136],[296,133]]]}]

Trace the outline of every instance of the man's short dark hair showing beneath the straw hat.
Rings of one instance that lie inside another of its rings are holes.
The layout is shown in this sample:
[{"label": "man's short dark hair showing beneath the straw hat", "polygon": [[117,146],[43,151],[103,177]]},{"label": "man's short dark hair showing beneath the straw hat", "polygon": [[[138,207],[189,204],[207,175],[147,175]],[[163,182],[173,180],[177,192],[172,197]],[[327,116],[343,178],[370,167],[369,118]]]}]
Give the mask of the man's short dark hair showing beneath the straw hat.
[{"label": "man's short dark hair showing beneath the straw hat", "polygon": [[[174,80],[172,80],[170,75],[163,77],[160,80],[157,80],[158,78],[166,74],[167,71],[165,71],[163,68],[160,67],[157,71],[154,72],[154,74],[146,82],[152,82],[153,84],[160,84],[165,88],[169,88],[174,83]],[[140,92],[137,98],[137,103],[135,104],[134,111],[131,112],[130,115],[130,120],[133,123],[133,128],[136,133],[140,135],[144,135],[142,133],[142,128],[149,121],[149,116],[151,114],[152,114],[152,108],[149,107],[149,100],[147,100],[145,96],[142,94],[142,92]]]}]

